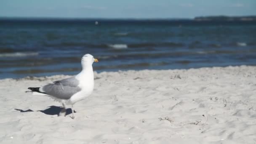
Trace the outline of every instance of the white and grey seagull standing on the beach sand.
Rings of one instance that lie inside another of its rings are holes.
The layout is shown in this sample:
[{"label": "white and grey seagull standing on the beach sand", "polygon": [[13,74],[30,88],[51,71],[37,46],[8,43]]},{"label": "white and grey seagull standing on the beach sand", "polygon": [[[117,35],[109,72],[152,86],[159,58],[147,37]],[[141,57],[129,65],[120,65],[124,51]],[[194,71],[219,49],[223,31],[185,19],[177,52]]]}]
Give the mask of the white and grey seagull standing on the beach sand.
[{"label": "white and grey seagull standing on the beach sand", "polygon": [[73,105],[77,101],[85,99],[93,92],[93,62],[98,62],[91,54],[85,54],[81,59],[82,71],[75,77],[69,77],[63,80],[57,80],[42,87],[28,88],[34,95],[46,95],[63,105],[59,113],[66,116],[67,105],[72,105],[72,119],[75,118]]}]

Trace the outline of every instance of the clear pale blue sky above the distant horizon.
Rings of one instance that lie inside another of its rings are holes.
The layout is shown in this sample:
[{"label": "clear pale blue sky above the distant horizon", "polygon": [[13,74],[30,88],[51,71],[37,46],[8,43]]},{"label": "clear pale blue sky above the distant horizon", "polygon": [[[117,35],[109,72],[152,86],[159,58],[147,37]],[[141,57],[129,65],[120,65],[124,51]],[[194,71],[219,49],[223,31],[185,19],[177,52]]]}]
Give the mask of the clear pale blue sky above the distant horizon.
[{"label": "clear pale blue sky above the distant horizon", "polygon": [[0,17],[194,18],[256,15],[256,0],[0,0]]}]

